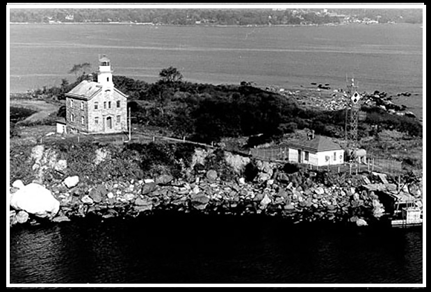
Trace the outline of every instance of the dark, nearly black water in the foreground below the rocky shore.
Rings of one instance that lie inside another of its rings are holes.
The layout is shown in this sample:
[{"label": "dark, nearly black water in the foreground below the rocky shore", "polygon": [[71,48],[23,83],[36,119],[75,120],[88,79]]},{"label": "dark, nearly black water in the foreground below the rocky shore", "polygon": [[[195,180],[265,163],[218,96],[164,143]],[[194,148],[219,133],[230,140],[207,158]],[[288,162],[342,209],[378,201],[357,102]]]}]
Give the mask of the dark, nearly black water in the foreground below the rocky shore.
[{"label": "dark, nearly black water in the foreground below the rocky shore", "polygon": [[10,230],[10,283],[422,283],[421,229],[154,215]]}]

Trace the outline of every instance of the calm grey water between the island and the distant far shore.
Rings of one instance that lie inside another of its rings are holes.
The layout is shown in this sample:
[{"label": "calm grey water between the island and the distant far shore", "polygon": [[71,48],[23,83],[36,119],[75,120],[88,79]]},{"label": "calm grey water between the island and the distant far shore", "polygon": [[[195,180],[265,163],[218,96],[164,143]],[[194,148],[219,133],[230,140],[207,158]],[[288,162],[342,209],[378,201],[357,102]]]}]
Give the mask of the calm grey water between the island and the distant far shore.
[{"label": "calm grey water between the island and the distant far shore", "polygon": [[396,94],[421,116],[423,31],[418,24],[344,26],[143,26],[11,24],[10,92],[59,86],[74,64],[97,70],[108,54],[114,74],[153,82],[174,66],[202,83],[254,81],[284,88],[330,83]]}]

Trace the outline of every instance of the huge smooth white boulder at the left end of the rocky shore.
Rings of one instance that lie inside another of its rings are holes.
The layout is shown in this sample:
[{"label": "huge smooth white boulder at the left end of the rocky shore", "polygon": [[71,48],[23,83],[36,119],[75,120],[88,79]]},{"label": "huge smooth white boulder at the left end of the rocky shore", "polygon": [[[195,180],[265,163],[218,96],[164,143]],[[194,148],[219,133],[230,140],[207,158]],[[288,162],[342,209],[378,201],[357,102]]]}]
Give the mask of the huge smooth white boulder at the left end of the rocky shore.
[{"label": "huge smooth white boulder at the left end of the rocky shore", "polygon": [[53,218],[60,209],[60,202],[44,186],[31,183],[10,196],[10,206],[41,218]]}]

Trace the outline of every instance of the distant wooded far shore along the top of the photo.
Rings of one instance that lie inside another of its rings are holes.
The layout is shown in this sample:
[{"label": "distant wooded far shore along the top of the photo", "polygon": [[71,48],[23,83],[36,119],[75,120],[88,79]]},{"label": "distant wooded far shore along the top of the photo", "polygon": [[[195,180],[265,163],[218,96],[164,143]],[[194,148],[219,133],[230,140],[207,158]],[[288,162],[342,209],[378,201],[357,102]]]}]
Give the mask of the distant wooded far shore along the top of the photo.
[{"label": "distant wooded far shore along the top of the photo", "polygon": [[10,9],[10,22],[137,22],[152,24],[329,24],[343,17],[422,23],[421,9]]}]

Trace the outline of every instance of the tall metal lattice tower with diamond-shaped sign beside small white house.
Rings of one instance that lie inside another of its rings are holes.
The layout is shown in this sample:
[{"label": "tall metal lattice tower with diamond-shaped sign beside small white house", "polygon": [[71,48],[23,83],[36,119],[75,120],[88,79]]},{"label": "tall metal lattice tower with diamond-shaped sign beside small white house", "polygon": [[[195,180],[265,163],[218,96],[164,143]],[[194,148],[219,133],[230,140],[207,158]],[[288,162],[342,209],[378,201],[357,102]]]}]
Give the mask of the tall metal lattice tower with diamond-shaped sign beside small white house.
[{"label": "tall metal lattice tower with diamond-shaped sign beside small white house", "polygon": [[[359,120],[359,106],[358,102],[361,96],[357,92],[358,86],[355,86],[355,80],[352,78],[351,83],[348,84],[348,98],[350,99],[350,111],[346,111],[346,142],[347,148],[355,152],[357,150],[358,141],[358,120]],[[348,114],[350,113],[350,114]]]}]

